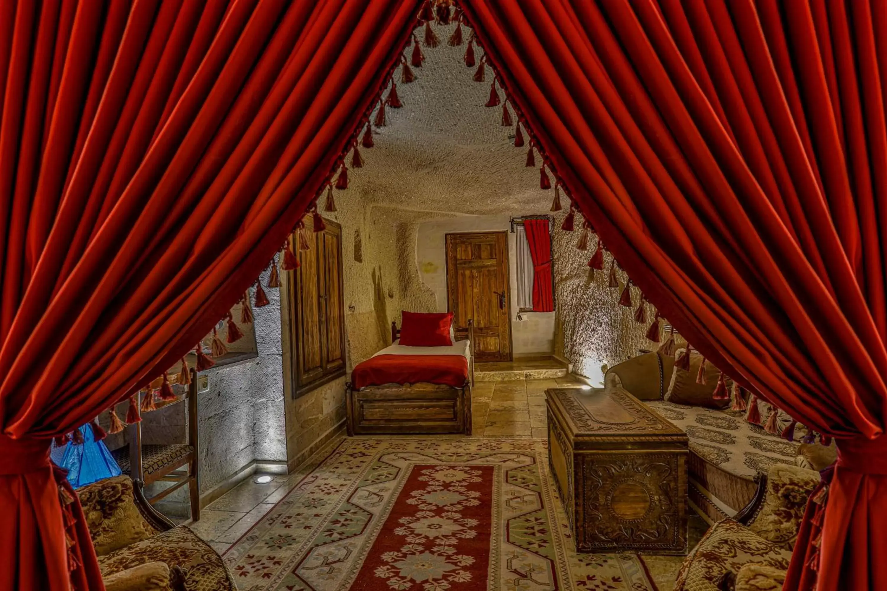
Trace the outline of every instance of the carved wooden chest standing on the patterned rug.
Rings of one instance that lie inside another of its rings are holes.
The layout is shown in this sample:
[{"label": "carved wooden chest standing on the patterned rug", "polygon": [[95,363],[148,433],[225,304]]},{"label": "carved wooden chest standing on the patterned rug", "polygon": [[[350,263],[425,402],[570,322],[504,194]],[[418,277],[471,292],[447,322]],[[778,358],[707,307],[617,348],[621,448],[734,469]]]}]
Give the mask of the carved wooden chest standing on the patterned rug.
[{"label": "carved wooden chest standing on the patterned rug", "polygon": [[548,461],[580,552],[687,552],[687,435],[622,388],[546,391]]}]

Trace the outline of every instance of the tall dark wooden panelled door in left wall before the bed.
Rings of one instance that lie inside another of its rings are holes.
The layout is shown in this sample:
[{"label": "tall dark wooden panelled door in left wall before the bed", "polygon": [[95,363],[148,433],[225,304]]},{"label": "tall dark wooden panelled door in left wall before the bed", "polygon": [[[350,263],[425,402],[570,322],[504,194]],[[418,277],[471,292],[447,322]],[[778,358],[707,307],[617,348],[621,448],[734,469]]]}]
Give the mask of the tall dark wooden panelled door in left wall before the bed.
[{"label": "tall dark wooden panelled door in left wall before the bed", "polygon": [[299,268],[287,274],[296,397],[345,374],[341,226],[326,220],[326,229],[313,232],[311,216],[304,221],[310,249],[298,253]]}]

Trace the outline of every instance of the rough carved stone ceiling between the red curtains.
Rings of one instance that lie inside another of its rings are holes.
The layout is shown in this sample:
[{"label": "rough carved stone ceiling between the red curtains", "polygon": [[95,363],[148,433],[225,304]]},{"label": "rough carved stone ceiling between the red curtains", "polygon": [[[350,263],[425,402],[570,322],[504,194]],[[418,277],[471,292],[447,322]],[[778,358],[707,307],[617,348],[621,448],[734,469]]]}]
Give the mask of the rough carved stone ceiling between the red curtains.
[{"label": "rough carved stone ceiling between the red curtains", "polygon": [[[352,194],[367,205],[416,212],[547,212],[553,191],[539,189],[538,167],[524,167],[526,147],[514,147],[514,126],[500,125],[501,107],[484,106],[491,68],[487,82],[474,82],[474,69],[462,61],[465,44],[446,43],[452,30],[435,27],[441,43],[422,48],[426,60],[413,68],[415,82],[400,83],[397,68],[397,93],[404,106],[386,107],[388,125],[373,128],[374,147],[360,149],[364,167],[349,171],[349,189],[337,199],[357,191]],[[480,58],[483,51],[476,55]]]}]

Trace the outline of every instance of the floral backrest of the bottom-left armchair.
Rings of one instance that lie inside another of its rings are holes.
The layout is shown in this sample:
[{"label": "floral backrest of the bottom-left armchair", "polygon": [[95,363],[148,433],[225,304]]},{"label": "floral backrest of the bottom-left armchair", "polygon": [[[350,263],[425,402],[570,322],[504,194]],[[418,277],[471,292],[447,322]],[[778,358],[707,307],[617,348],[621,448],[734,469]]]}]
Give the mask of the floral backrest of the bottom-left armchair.
[{"label": "floral backrest of the bottom-left armchair", "polygon": [[128,476],[106,478],[83,486],[77,490],[77,496],[98,556],[157,533],[138,512]]}]

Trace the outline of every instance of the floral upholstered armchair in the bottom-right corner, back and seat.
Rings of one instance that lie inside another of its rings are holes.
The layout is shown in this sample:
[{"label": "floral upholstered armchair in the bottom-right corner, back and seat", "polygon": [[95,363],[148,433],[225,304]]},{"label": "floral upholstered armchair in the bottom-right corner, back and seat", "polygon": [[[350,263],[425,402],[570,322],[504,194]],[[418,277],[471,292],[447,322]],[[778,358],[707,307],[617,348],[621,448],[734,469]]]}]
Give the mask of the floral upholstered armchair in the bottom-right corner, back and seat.
[{"label": "floral upholstered armchair in the bottom-right corner, back and seat", "polygon": [[807,499],[820,474],[777,464],[765,495],[709,528],[681,565],[675,591],[781,589]]}]

